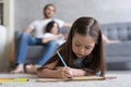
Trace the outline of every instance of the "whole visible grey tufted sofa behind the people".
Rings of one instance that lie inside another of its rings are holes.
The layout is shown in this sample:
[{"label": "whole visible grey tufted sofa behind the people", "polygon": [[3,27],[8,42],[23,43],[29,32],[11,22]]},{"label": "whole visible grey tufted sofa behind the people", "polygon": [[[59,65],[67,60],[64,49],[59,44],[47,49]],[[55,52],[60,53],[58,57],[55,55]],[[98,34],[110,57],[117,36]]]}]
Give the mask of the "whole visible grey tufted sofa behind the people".
[{"label": "whole visible grey tufted sofa behind the people", "polygon": [[[62,27],[61,33],[68,33],[69,27]],[[102,32],[118,44],[105,44],[107,70],[131,70],[131,22],[102,24]],[[16,49],[21,33],[15,32]],[[40,58],[44,48],[41,46],[28,46],[26,63],[35,63]]]}]

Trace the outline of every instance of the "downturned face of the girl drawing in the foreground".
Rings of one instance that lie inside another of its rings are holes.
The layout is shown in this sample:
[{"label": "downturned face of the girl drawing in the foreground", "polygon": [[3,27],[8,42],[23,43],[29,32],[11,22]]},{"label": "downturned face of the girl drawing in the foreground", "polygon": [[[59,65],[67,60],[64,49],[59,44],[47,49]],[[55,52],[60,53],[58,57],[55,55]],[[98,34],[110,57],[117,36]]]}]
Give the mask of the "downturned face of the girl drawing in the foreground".
[{"label": "downturned face of the girl drawing in the foreground", "polygon": [[95,47],[95,40],[90,35],[74,34],[72,39],[72,51],[78,58],[88,55]]}]

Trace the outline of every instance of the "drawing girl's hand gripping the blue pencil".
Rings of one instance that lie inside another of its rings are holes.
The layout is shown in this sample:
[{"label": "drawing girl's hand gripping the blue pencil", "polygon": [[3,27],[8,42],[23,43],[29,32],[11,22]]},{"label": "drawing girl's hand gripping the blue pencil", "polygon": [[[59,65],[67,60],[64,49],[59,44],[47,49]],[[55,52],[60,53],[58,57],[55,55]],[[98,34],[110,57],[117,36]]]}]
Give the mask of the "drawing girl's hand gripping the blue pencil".
[{"label": "drawing girl's hand gripping the blue pencil", "polygon": [[59,66],[57,67],[57,77],[60,78],[72,78],[73,73],[70,67],[66,66]]}]

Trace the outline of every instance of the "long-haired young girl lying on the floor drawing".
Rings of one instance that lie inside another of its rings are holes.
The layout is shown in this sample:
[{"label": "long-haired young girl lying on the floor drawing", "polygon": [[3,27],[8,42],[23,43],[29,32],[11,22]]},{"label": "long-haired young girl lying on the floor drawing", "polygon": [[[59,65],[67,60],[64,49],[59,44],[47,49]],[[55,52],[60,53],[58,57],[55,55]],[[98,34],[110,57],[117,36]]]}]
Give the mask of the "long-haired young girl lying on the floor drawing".
[{"label": "long-haired young girl lying on the floor drawing", "polygon": [[68,78],[105,75],[105,57],[100,26],[93,17],[80,17],[71,27],[68,40],[58,49],[68,66],[56,53],[43,67],[38,77]]}]

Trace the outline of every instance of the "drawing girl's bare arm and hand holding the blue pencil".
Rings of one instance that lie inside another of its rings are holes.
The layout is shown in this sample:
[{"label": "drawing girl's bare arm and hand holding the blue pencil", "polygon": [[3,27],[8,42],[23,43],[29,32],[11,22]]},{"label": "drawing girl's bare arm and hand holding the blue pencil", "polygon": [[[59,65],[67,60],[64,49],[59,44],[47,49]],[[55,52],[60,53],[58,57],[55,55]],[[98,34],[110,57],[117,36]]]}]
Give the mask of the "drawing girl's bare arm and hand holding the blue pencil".
[{"label": "drawing girl's bare arm and hand holding the blue pencil", "polygon": [[52,63],[49,63],[48,65],[45,65],[44,67],[38,69],[37,75],[38,77],[57,77],[57,78],[68,78],[72,77],[72,72],[69,67],[66,66],[59,66],[56,67],[57,63],[59,61],[55,61]]}]

